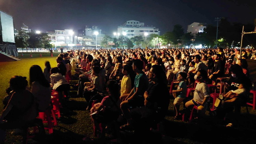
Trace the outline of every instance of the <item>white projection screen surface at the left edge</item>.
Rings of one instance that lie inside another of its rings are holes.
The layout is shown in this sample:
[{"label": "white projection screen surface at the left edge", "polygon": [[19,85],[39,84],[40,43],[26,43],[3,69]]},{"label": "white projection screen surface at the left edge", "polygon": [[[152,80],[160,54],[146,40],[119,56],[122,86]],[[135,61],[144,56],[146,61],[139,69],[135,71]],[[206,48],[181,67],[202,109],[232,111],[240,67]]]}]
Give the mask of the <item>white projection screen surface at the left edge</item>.
[{"label": "white projection screen surface at the left edge", "polygon": [[15,43],[13,17],[2,11],[0,11],[0,17],[1,17],[1,25],[2,25],[3,42]]}]

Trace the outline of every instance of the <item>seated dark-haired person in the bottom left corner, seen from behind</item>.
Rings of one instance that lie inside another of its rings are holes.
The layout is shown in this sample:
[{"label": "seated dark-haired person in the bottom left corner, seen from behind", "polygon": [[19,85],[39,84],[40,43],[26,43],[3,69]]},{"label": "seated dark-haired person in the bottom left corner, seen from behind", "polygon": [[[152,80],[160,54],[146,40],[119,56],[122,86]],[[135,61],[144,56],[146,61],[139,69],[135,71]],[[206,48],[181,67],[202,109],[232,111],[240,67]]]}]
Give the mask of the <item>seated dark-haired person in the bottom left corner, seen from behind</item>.
[{"label": "seated dark-haired person in the bottom left corner, seen from behind", "polygon": [[34,96],[27,86],[26,77],[13,76],[10,79],[14,92],[0,117],[0,143],[4,142],[5,129],[24,129],[37,116]]}]

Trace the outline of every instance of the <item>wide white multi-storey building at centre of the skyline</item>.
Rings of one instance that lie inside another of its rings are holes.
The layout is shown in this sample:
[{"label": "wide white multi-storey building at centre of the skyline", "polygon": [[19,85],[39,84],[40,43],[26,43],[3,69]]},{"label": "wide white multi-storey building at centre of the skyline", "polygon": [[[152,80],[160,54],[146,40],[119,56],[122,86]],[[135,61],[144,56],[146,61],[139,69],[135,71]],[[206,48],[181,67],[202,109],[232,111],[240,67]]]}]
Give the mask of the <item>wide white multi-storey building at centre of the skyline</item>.
[{"label": "wide white multi-storey building at centre of the skyline", "polygon": [[122,33],[124,32],[126,34],[126,37],[130,39],[139,35],[144,36],[145,33],[147,33],[148,35],[152,33],[159,35],[160,31],[156,27],[145,26],[144,22],[139,22],[137,20],[128,20],[121,26],[117,27],[117,33],[122,35]]}]

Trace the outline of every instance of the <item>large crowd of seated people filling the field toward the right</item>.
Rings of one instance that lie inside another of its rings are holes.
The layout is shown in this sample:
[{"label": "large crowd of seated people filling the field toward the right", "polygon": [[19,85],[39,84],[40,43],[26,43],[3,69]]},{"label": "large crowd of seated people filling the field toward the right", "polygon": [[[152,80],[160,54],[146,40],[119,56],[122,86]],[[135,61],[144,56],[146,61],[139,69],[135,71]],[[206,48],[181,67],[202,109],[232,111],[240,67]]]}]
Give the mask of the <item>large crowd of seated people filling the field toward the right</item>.
[{"label": "large crowd of seated people filling the field toward the right", "polygon": [[[239,89],[242,81],[247,83],[241,84],[245,92],[235,91],[225,95],[228,99],[218,111],[227,113],[234,105],[245,103],[247,92],[250,89],[246,59],[256,59],[256,51],[242,50],[240,57],[239,50],[232,48],[71,50],[57,57],[57,67],[50,68],[47,62],[44,73],[39,66],[32,66],[30,72],[38,73],[38,76],[35,78],[31,76],[30,86],[33,97],[39,105],[38,111],[44,111],[50,103],[48,94],[50,85],[54,90],[64,91],[65,95],[69,96],[68,81],[71,78],[70,70],[73,68],[79,76],[77,95],[85,98],[89,110],[93,106],[91,98],[97,91],[108,91],[109,98],[116,97],[117,93],[113,95],[113,87],[108,85],[110,84],[108,81],[113,80],[119,84],[115,90],[119,92],[120,102],[118,103],[120,104],[118,106],[120,109],[115,109],[120,111],[126,120],[126,124],[121,125],[120,129],[134,128],[141,132],[137,129],[137,126],[140,126],[145,132],[148,130],[148,125],[138,124],[141,122],[151,124],[153,120],[150,118],[159,111],[161,111],[158,113],[160,117],[164,118],[168,107],[162,101],[169,102],[169,94],[165,91],[167,84],[175,80],[180,83],[178,89],[172,91],[172,95],[176,97],[174,119],[177,120],[181,119],[179,109],[181,102],[186,99],[184,96],[187,95],[187,87],[194,87],[195,92],[191,100],[184,102],[184,106],[191,109],[196,105],[198,118],[203,118],[210,99],[207,84],[214,82],[216,85],[216,80],[220,77],[229,78],[226,81],[224,92]],[[226,71],[228,73],[225,73]],[[42,90],[46,93],[44,98],[42,98]],[[13,92],[10,92],[9,96],[11,94]],[[106,99],[103,100],[106,101]],[[104,102],[101,103],[103,104]],[[157,109],[156,105],[159,105],[158,108],[161,109]]]}]

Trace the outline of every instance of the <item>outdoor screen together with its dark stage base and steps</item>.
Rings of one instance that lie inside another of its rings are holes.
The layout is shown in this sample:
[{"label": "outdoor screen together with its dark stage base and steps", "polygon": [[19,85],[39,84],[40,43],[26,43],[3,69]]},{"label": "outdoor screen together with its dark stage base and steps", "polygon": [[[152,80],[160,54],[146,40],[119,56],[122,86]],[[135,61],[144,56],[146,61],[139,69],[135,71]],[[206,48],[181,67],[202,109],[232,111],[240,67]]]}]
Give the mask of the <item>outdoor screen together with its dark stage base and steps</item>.
[{"label": "outdoor screen together with its dark stage base and steps", "polygon": [[4,11],[0,11],[0,61],[9,61],[3,60],[5,55],[18,57],[14,37],[13,17]]}]

